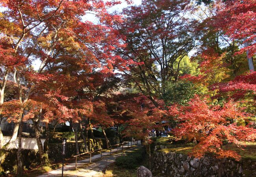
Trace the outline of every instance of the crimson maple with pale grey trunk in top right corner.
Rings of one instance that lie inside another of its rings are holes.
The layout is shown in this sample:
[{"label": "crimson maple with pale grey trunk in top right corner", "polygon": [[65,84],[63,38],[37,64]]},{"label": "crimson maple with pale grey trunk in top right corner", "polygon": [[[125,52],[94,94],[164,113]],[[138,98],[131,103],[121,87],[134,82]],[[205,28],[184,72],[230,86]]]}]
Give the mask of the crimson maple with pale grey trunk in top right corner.
[{"label": "crimson maple with pale grey trunk in top right corner", "polygon": [[219,7],[220,11],[215,17],[216,26],[225,31],[231,38],[243,41],[244,47],[237,53],[246,51],[249,70],[254,71],[252,56],[256,53],[255,0],[244,0],[242,2],[239,0],[226,1],[222,5],[224,6]]}]

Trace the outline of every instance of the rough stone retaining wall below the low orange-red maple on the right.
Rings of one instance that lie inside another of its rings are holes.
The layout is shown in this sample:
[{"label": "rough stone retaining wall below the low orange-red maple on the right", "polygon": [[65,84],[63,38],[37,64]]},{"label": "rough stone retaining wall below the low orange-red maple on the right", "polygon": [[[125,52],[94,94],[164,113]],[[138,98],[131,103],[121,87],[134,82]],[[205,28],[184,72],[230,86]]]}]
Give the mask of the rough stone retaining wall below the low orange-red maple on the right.
[{"label": "rough stone retaining wall below the low orange-red maple on the right", "polygon": [[197,159],[183,154],[154,152],[153,174],[167,177],[253,177],[256,176],[256,162],[202,157]]}]

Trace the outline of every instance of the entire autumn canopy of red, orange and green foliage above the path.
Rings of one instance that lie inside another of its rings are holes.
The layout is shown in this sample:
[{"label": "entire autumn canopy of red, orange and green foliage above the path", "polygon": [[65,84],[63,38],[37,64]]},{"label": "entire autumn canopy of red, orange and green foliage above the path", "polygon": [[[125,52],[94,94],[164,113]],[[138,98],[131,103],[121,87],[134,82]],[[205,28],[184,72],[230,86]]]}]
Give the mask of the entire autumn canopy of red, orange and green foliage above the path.
[{"label": "entire autumn canopy of red, orange and green foliage above the path", "polygon": [[255,0],[1,0],[0,124],[14,127],[0,151],[30,120],[42,164],[66,122],[76,141],[93,127],[106,140],[114,125],[145,140],[170,127],[197,143],[191,155],[238,160],[223,145],[256,139],[255,19]]}]

